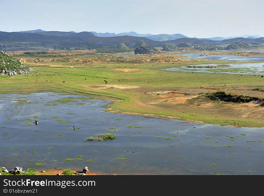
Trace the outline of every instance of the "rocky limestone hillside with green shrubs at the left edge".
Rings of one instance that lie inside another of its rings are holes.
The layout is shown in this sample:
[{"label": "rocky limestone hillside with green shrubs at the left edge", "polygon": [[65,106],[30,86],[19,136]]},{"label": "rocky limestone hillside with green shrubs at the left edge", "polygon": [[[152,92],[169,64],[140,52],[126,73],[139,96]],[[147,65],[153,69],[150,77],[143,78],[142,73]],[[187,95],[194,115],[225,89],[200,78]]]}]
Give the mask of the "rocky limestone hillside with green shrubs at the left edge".
[{"label": "rocky limestone hillside with green shrubs at the left edge", "polygon": [[22,62],[13,58],[12,56],[0,51],[0,74],[7,74],[10,76],[24,73],[34,73],[32,68],[26,67]]}]

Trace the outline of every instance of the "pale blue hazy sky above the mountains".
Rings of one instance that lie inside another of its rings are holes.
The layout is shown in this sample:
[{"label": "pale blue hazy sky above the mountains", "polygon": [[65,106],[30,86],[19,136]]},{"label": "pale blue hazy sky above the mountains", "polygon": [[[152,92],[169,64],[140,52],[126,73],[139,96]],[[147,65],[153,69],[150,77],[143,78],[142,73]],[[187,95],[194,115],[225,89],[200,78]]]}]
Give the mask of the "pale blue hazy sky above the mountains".
[{"label": "pale blue hazy sky above the mountains", "polygon": [[0,0],[0,31],[264,36],[263,0]]}]

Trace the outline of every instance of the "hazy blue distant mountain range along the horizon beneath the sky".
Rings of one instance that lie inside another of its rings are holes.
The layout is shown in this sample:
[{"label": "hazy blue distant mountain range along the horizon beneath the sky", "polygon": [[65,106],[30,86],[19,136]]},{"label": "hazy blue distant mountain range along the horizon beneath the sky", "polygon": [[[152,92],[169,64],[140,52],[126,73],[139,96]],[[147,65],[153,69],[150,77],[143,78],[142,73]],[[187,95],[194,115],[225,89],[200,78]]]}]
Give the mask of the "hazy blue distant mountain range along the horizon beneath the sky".
[{"label": "hazy blue distant mountain range along the horizon beneath the sky", "polygon": [[[129,32],[134,35],[135,32]],[[120,33],[119,33],[120,34]],[[116,34],[118,35],[118,34]],[[143,34],[148,35],[148,34]],[[256,36],[256,35],[255,35]],[[165,39],[165,41],[164,41]],[[146,45],[151,47],[163,47],[164,45],[230,45],[232,43],[242,41],[247,44],[264,44],[264,37],[260,38],[232,38],[223,40],[198,39],[190,38],[182,34],[159,34],[146,37],[140,36],[96,36],[92,32],[64,32],[64,31],[44,31],[41,29],[22,31],[22,32],[2,32],[0,31],[0,50],[7,51],[8,48],[26,48],[44,47],[44,48],[101,48],[116,47],[122,43],[133,48],[137,42],[144,41]],[[27,43],[27,44],[25,44]]]}]

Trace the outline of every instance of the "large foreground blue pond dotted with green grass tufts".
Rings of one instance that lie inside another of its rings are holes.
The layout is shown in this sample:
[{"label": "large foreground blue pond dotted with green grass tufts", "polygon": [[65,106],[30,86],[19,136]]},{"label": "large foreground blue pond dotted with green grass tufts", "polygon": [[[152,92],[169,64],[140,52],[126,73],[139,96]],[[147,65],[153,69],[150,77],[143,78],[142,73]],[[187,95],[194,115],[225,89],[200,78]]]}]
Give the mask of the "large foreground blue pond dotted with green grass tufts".
[{"label": "large foreground blue pond dotted with green grass tufts", "polygon": [[[264,174],[264,128],[105,112],[110,104],[63,93],[1,94],[0,165],[79,171],[88,166],[90,172],[117,175]],[[107,131],[116,139],[84,141]]]}]

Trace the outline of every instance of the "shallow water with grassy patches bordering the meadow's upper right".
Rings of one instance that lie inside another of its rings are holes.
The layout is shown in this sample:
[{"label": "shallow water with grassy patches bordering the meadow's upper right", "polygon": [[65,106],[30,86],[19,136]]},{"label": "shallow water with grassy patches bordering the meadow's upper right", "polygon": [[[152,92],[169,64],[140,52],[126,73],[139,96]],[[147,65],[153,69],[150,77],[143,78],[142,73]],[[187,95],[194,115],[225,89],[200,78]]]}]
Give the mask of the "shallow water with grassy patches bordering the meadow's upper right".
[{"label": "shallow water with grassy patches bordering the meadow's upper right", "polygon": [[[223,64],[201,64],[193,65],[196,68],[182,66],[178,68],[164,69],[167,71],[193,71],[204,73],[232,73],[232,74],[251,74],[251,75],[264,75],[264,63],[226,63],[229,67],[222,68],[206,68],[206,66],[216,66]],[[190,65],[192,66],[192,65]]]}]

